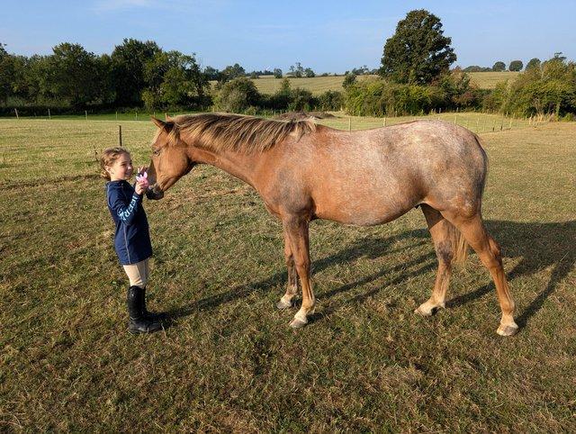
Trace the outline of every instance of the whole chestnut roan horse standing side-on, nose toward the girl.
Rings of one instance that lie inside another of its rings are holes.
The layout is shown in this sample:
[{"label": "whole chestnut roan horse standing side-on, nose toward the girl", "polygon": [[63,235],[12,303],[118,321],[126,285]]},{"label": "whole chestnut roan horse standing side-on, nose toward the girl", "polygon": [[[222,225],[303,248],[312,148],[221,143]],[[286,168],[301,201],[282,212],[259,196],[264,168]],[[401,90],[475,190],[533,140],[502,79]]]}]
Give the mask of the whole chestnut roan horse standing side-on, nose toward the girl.
[{"label": "whole chestnut roan horse standing side-on, nose toward the girl", "polygon": [[338,131],[311,121],[283,122],[236,114],[183,115],[152,121],[158,131],[148,168],[148,197],[160,199],[199,163],[220,167],[252,185],[284,229],[289,308],[302,285],[302,307],[290,325],[314,312],[309,224],[328,219],[357,225],[391,222],[419,206],[437,252],[432,296],[416,312],[445,307],[452,264],[466,242],[489,269],[502,319],[498,333],[513,335],[514,302],[500,247],[482,222],[486,153],[473,132],[448,122],[416,121],[367,131]]}]

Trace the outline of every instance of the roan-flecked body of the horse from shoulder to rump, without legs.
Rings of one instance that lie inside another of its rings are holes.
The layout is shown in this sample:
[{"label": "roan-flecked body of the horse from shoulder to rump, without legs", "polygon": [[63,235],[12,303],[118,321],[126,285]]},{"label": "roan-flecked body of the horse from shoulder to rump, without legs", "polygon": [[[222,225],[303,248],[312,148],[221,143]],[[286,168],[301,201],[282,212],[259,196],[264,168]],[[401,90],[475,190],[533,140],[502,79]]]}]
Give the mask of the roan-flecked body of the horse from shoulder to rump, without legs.
[{"label": "roan-flecked body of the horse from shoulder to rump, without legs", "polygon": [[280,200],[312,203],[316,217],[361,225],[390,222],[419,203],[475,206],[485,176],[476,136],[438,121],[354,132],[319,128],[283,157],[271,185]]}]

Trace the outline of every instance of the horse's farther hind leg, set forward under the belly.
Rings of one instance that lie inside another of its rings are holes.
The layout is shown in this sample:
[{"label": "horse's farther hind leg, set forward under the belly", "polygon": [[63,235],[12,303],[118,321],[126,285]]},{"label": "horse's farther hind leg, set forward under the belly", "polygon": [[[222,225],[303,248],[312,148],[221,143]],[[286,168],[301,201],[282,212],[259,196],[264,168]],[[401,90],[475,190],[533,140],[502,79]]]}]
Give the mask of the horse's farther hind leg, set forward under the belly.
[{"label": "horse's farther hind leg, set forward under the belly", "polygon": [[438,258],[438,270],[434,289],[428,302],[419,305],[416,313],[420,315],[429,316],[434,313],[437,308],[444,308],[446,302],[446,291],[450,284],[450,275],[452,274],[452,259],[454,258],[454,241],[451,236],[454,234],[454,227],[452,223],[448,222],[440,212],[422,203],[420,205],[428,229],[434,240],[434,249]]}]

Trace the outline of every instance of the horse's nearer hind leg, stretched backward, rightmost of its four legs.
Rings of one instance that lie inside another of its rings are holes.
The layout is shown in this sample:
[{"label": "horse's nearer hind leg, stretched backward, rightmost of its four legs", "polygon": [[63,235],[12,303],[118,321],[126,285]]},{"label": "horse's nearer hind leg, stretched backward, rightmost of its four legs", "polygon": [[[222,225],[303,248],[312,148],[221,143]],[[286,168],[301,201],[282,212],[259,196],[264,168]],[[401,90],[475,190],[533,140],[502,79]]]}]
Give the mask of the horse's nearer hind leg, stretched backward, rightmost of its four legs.
[{"label": "horse's nearer hind leg, stretched backward, rightmost of its four legs", "polygon": [[478,257],[482,260],[482,264],[488,268],[494,280],[500,309],[502,310],[502,319],[497,333],[501,336],[515,334],[518,331],[518,325],[514,321],[513,316],[514,300],[512,300],[504,267],[502,267],[500,246],[486,231],[480,213],[470,218],[450,215],[450,213],[445,213],[445,215],[462,232],[464,239],[476,251]]}]

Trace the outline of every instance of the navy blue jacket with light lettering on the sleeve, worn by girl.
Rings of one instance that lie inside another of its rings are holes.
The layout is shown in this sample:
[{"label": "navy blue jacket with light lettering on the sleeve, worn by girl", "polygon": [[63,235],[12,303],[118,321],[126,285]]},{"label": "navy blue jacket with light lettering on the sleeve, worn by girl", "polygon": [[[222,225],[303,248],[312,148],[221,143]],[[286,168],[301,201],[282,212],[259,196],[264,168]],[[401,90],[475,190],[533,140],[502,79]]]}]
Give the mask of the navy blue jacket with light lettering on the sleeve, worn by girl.
[{"label": "navy blue jacket with light lettering on the sleeve, worn by girl", "polygon": [[150,258],[152,245],[142,195],[127,181],[111,181],[106,184],[106,201],[116,223],[114,249],[121,265]]}]

